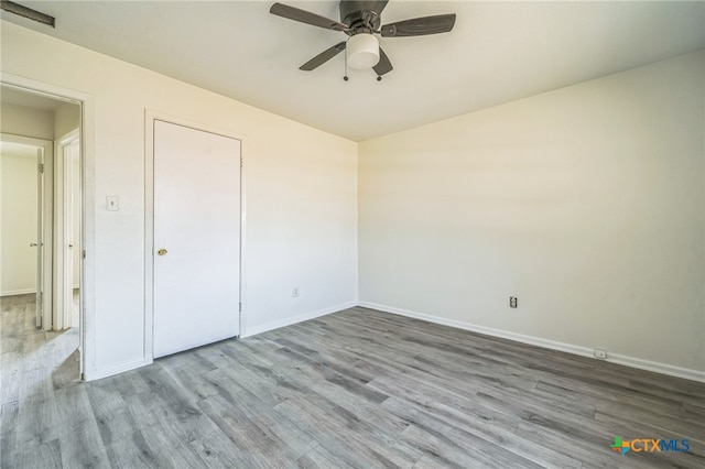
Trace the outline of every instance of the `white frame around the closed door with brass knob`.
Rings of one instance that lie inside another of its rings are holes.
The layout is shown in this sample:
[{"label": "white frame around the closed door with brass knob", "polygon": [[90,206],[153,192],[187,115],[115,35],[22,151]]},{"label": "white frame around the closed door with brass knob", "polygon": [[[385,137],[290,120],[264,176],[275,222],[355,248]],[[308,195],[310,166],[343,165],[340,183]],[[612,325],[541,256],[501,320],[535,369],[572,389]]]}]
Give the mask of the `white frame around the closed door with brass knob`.
[{"label": "white frame around the closed door with brass knob", "polygon": [[154,121],[160,120],[176,126],[188,127],[204,132],[215,133],[240,141],[240,334],[245,326],[245,233],[247,221],[247,203],[245,190],[245,138],[228,130],[205,126],[180,117],[166,114],[151,109],[144,110],[144,360],[154,361]]}]

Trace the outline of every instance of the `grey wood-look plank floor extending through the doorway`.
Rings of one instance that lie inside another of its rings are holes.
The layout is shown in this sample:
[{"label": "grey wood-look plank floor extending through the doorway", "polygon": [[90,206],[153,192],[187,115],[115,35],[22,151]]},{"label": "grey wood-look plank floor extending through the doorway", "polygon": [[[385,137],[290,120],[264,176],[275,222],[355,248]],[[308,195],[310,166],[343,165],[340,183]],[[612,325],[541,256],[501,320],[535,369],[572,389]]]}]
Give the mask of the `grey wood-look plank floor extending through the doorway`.
[{"label": "grey wood-look plank floor extending through the doorway", "polygon": [[2,299],[2,468],[705,467],[692,381],[354,308],[80,383],[32,307]]}]

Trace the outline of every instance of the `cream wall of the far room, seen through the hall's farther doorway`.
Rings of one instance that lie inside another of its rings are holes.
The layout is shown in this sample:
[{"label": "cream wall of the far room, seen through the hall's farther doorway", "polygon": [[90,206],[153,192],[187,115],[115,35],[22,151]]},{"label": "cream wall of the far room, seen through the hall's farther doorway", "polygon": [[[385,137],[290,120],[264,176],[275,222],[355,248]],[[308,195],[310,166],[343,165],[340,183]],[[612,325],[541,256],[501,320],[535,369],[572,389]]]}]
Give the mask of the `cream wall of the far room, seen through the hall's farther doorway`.
[{"label": "cream wall of the far room, seen through the hall's farther doorway", "polygon": [[36,291],[36,156],[0,154],[0,295]]}]

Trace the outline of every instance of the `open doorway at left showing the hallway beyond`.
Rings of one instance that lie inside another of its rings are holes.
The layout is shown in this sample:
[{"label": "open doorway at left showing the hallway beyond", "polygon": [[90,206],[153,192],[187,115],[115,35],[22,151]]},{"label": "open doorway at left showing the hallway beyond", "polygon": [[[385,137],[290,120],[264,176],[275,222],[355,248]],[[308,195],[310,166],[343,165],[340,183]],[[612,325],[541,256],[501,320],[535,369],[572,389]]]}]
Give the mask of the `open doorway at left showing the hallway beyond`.
[{"label": "open doorway at left showing the hallway beyond", "polygon": [[82,102],[0,87],[0,371],[35,361],[56,389],[83,378]]}]

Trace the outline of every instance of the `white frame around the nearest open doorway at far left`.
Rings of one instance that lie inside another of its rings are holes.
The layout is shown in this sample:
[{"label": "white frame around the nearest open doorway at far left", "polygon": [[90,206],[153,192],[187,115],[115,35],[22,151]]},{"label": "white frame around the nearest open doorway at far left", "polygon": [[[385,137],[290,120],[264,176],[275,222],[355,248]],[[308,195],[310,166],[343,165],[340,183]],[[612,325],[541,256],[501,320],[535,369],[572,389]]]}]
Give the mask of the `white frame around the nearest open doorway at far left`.
[{"label": "white frame around the nearest open doorway at far left", "polygon": [[93,95],[44,81],[0,72],[0,83],[23,92],[69,101],[80,108],[80,194],[83,250],[80,265],[79,373],[80,379],[98,378],[96,366],[96,159],[95,98]]}]

